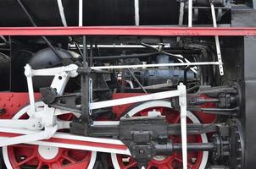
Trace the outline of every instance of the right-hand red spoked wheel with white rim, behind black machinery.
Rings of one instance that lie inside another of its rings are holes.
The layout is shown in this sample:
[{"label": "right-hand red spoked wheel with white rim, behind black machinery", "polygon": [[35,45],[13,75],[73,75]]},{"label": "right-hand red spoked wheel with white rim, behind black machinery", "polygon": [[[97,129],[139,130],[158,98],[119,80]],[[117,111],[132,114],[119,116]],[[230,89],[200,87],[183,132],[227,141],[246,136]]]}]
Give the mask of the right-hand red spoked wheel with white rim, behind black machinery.
[{"label": "right-hand red spoked wheel with white rim, behind black machinery", "polygon": [[[133,116],[147,116],[149,111],[161,112],[166,116],[168,123],[180,123],[180,112],[171,110],[170,101],[147,101],[139,106],[132,108],[125,115]],[[187,123],[200,123],[198,118],[187,112]],[[173,142],[181,143],[181,137],[171,136]],[[188,142],[207,143],[206,134],[188,135]],[[190,169],[204,169],[208,160],[208,151],[188,152],[188,168]],[[127,155],[111,154],[111,159],[115,169],[134,169],[137,168],[136,161]],[[182,155],[175,152],[170,156],[157,156],[152,161],[147,163],[147,169],[175,169],[182,168]]]}]

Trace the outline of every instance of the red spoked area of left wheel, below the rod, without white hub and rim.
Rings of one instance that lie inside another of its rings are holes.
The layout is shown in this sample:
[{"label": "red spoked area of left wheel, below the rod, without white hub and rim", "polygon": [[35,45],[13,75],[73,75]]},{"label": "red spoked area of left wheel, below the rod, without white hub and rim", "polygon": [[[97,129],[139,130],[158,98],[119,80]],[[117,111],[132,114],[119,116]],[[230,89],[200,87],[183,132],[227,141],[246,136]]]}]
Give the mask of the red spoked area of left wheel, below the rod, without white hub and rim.
[{"label": "red spoked area of left wheel, below the rod, without white hub and rim", "polygon": [[[86,168],[92,157],[91,151],[58,148],[53,159],[45,159],[38,152],[38,145],[16,144],[8,146],[8,157],[14,169],[20,168]],[[23,161],[20,159],[25,158]],[[36,167],[35,167],[36,166]]]}]

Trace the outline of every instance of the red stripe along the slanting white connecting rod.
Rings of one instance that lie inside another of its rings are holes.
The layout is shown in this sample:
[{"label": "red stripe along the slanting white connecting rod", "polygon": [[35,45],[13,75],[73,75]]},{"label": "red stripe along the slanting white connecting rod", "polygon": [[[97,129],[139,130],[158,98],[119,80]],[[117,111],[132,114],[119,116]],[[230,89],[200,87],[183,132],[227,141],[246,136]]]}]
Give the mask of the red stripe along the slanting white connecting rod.
[{"label": "red stripe along the slanting white connecting rod", "polygon": [[[23,134],[12,134],[12,133],[4,133],[0,132],[0,137],[8,137],[13,138]],[[127,150],[125,145],[120,144],[108,144],[108,143],[96,143],[91,141],[82,141],[82,140],[75,140],[75,139],[60,139],[60,138],[50,138],[50,139],[43,139],[40,141],[44,142],[51,142],[51,143],[60,143],[60,144],[77,144],[82,146],[91,146],[91,147],[100,147],[106,149],[115,149],[115,150]]]}]

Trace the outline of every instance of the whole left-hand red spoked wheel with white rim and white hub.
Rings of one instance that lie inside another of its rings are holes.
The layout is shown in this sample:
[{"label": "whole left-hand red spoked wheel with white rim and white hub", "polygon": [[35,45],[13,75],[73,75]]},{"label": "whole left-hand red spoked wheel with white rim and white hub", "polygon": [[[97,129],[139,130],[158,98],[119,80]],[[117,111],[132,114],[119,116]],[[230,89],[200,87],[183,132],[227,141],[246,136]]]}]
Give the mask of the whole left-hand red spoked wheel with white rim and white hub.
[{"label": "whole left-hand red spoked wheel with white rim and white hub", "polygon": [[[36,107],[44,106],[42,101]],[[16,113],[13,119],[24,118],[28,106]],[[59,117],[69,120],[70,114]],[[3,160],[8,168],[23,169],[77,169],[92,168],[96,161],[95,151],[73,150],[36,144],[15,144],[3,147]]]}]

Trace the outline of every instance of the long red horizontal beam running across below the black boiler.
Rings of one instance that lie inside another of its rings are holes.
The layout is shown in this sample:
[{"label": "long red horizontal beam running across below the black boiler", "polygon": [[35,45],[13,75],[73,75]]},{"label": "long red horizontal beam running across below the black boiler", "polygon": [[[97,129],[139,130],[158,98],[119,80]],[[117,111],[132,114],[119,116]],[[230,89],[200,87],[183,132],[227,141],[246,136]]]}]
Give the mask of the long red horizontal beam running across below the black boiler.
[{"label": "long red horizontal beam running across below the black boiler", "polygon": [[2,27],[0,35],[256,35],[256,28],[244,27]]}]

